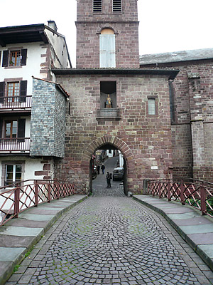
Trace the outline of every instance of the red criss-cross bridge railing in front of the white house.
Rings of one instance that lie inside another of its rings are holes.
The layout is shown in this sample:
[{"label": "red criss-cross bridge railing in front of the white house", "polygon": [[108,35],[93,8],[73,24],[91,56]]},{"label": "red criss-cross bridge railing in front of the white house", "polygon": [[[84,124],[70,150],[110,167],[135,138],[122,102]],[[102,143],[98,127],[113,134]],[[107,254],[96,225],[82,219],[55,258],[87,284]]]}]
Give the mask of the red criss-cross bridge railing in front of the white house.
[{"label": "red criss-cross bridge railing in front of the white house", "polygon": [[74,191],[74,184],[52,180],[26,180],[0,187],[0,226],[25,209],[73,195]]}]

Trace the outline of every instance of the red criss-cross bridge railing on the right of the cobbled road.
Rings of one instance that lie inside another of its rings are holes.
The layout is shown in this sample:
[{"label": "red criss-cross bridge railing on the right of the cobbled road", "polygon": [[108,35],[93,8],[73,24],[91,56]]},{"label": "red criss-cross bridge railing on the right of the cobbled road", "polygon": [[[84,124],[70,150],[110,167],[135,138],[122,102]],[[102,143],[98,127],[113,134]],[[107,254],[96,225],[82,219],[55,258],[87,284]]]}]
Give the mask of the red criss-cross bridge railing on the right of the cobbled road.
[{"label": "red criss-cross bridge railing on the right of the cobbled road", "polygon": [[213,184],[202,180],[191,181],[148,180],[148,195],[188,204],[213,217]]}]

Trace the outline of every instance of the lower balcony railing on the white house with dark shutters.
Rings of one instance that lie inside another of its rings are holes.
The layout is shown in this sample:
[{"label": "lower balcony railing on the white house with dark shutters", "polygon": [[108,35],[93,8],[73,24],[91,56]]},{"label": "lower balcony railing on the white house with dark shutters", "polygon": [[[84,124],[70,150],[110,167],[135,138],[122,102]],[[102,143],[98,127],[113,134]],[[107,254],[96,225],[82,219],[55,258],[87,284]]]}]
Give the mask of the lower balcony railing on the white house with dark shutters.
[{"label": "lower balcony railing on the white house with dark shutters", "polygon": [[29,152],[30,138],[1,138],[1,152]]}]

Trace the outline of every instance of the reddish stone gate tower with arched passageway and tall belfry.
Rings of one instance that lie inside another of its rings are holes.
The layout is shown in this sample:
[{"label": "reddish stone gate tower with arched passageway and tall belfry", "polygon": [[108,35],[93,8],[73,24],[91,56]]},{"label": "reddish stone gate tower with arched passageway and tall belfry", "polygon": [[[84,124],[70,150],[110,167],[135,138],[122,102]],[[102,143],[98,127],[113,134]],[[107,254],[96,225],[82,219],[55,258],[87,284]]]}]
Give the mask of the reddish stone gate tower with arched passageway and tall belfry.
[{"label": "reddish stone gate tower with arched passageway and tall belfry", "polygon": [[55,175],[91,190],[92,154],[124,155],[125,192],[172,175],[168,81],[174,68],[139,68],[137,0],[77,0],[77,68],[55,68],[70,94],[65,158]]}]

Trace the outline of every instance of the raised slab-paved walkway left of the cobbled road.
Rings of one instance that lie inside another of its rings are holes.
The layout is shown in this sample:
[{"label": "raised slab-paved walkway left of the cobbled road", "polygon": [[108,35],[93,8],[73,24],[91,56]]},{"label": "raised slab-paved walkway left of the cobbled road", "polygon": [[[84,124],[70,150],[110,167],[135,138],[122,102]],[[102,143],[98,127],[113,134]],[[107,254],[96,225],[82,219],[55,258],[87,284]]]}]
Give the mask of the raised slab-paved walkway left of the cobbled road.
[{"label": "raised slab-paved walkway left of the cobbled road", "polygon": [[[0,284],[4,284],[25,254],[39,241],[55,221],[69,209],[86,199],[73,195],[26,209],[0,227]],[[25,283],[25,282],[23,282]],[[27,283],[25,283],[27,284]]]}]

